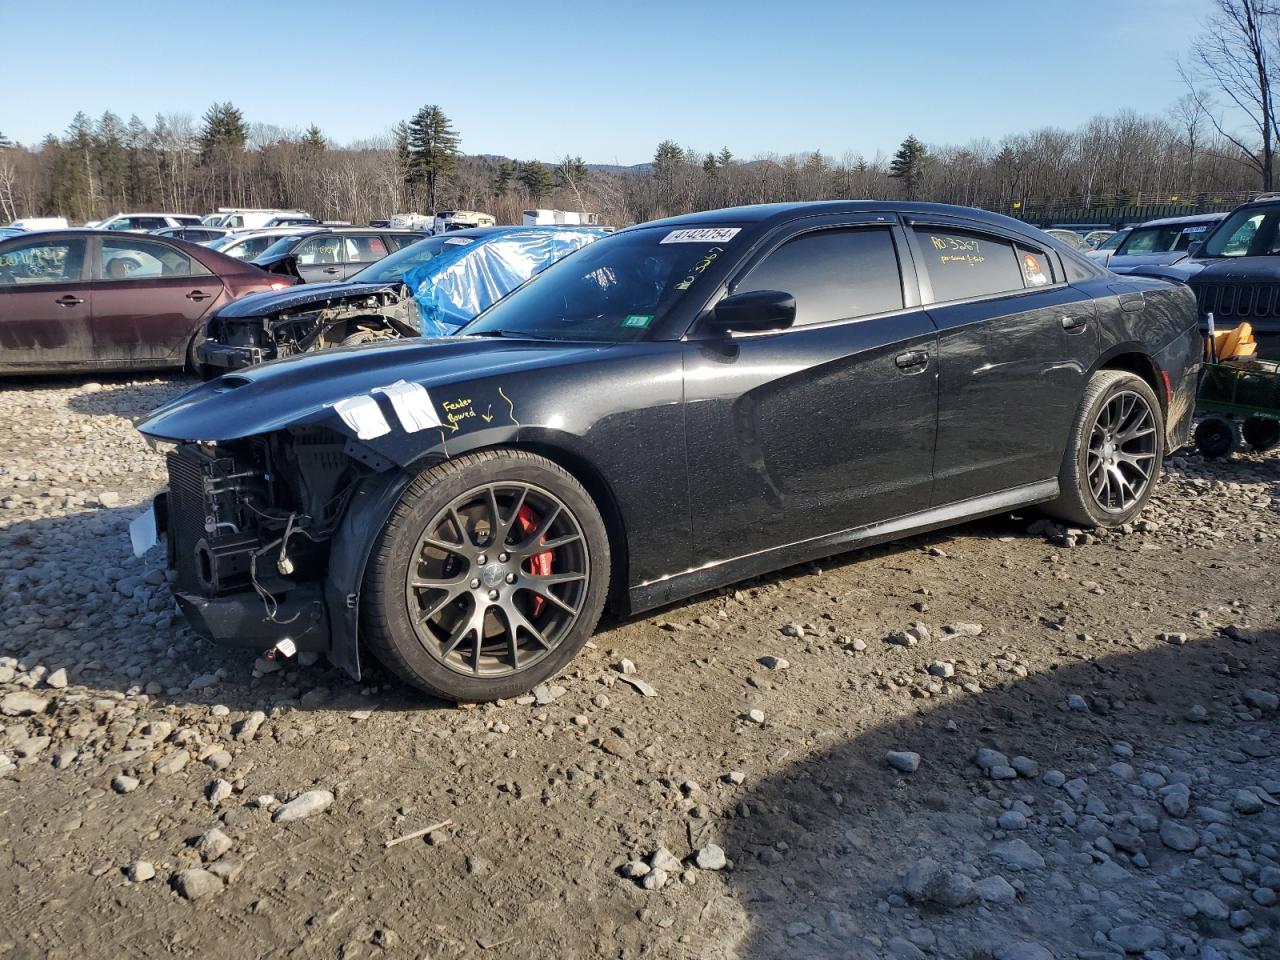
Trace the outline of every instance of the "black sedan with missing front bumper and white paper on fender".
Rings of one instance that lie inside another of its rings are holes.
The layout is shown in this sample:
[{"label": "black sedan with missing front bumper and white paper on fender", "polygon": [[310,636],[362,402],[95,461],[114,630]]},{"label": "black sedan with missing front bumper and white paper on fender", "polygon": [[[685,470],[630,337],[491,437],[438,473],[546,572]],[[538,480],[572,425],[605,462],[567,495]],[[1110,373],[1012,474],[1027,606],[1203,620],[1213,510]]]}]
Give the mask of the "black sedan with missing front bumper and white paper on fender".
[{"label": "black sedan with missing front bumper and white paper on fender", "polygon": [[440,696],[511,696],[634,613],[1038,504],[1135,517],[1188,435],[1180,284],[929,204],[634,227],[460,335],[229,374],[156,410],[179,605],[216,640],[358,640]]}]

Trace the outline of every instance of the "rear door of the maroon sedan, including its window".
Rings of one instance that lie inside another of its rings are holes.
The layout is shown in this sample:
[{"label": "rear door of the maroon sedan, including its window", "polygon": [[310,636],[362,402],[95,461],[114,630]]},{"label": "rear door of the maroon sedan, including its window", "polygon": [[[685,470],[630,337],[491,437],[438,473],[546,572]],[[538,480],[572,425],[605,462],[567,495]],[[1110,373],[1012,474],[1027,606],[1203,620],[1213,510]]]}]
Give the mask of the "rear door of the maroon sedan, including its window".
[{"label": "rear door of the maroon sedan, including its window", "polygon": [[223,283],[177,247],[136,234],[95,238],[93,351],[116,362],[186,362]]}]

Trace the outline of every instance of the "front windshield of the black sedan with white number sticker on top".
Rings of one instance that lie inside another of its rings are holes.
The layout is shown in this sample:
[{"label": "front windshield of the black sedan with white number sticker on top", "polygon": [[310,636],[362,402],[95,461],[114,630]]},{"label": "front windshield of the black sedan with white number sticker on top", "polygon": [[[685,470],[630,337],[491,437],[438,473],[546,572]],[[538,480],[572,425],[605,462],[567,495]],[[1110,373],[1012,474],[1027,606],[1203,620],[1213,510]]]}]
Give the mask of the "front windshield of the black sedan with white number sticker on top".
[{"label": "front windshield of the black sedan with white number sticker on top", "polygon": [[649,227],[605,237],[548,268],[460,333],[603,343],[646,339],[690,288],[701,288],[703,274],[740,229]]}]

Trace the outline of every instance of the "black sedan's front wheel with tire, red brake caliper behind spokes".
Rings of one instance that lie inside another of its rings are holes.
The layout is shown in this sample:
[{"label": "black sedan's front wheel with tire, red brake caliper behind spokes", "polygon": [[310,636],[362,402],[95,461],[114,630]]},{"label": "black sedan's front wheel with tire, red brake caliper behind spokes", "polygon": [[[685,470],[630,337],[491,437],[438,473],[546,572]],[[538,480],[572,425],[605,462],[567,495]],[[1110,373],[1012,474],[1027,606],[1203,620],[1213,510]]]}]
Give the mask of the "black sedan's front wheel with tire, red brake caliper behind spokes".
[{"label": "black sedan's front wheel with tire, red brake caliper behind spokes", "polygon": [[582,649],[609,564],[600,512],[566,470],[527,451],[468,453],[419,475],[379,534],[365,640],[401,680],[445,700],[516,696]]}]

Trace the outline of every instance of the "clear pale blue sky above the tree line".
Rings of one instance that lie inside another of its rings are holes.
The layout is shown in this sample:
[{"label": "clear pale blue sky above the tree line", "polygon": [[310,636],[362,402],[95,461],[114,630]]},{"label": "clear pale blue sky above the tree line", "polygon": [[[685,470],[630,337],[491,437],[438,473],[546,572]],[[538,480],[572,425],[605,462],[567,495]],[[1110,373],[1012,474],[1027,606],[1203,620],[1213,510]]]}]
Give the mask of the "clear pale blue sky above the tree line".
[{"label": "clear pale blue sky above the tree line", "polygon": [[439,104],[468,154],[643,163],[658,141],[868,157],[1162,113],[1208,0],[0,0],[0,132],[77,110],[250,120],[334,141]]}]

